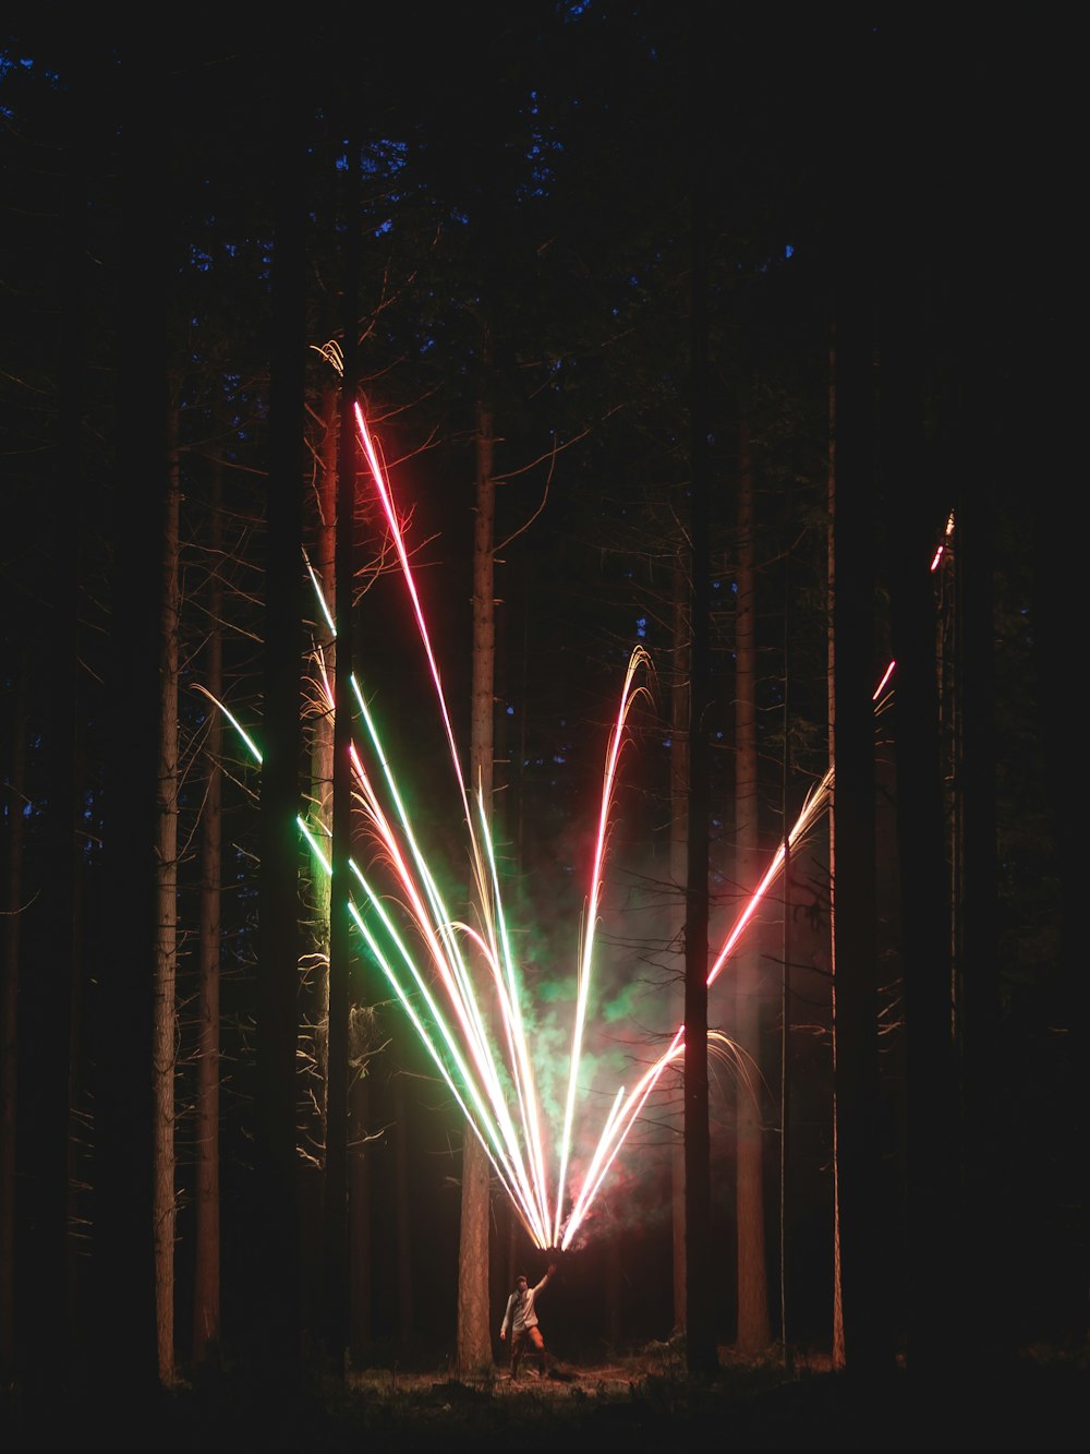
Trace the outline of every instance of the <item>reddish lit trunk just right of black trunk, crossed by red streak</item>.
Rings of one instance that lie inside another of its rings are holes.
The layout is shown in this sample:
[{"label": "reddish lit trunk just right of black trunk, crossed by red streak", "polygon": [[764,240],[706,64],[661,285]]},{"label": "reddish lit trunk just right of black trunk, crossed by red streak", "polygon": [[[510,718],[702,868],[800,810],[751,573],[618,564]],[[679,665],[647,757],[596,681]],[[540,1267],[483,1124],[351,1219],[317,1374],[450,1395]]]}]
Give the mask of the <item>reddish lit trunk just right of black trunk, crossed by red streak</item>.
[{"label": "reddish lit trunk just right of black trunk, crossed by red streak", "polygon": [[[757,576],[754,487],[748,433],[738,441],[738,596],[735,608],[735,871],[738,893],[747,896],[759,874],[757,792]],[[750,1063],[760,1066],[762,952],[747,936],[734,958],[735,1037]],[[764,1250],[764,1144],[760,1077],[738,1080],[735,1102],[738,1224],[738,1348],[746,1354],[769,1346],[769,1284]]]}]

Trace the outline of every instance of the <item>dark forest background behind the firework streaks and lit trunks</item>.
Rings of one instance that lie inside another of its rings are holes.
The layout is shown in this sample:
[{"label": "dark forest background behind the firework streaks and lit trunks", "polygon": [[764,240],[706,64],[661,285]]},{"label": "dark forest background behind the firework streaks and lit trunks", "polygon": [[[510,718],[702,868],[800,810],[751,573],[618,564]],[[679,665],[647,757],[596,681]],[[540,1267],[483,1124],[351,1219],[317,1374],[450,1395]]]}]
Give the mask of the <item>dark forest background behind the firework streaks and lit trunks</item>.
[{"label": "dark forest background behind the firework streaks and lit trunks", "polygon": [[[873,1214],[840,1255],[862,1248],[875,1346],[891,1352],[1081,1341],[1083,471],[1062,33],[1045,19],[1026,31],[994,13],[895,6],[334,4],[272,23],[247,12],[112,26],[38,4],[9,10],[0,33],[6,1384],[94,1378],[118,1361],[134,1381],[163,1373],[151,1088],[164,1056],[171,1377],[212,1357],[276,1361],[285,1322],[304,1348],[328,1341],[323,949],[308,938],[295,810],[283,811],[317,781],[317,728],[304,710],[286,758],[276,739],[276,800],[272,772],[263,782],[202,688],[215,672],[259,742],[278,692],[311,699],[321,621],[292,539],[326,558],[323,515],[344,470],[340,359],[407,513],[467,744],[488,419],[497,840],[528,989],[558,1013],[609,723],[632,647],[650,653],[593,1021],[593,1054],[622,1075],[682,1015],[670,792],[685,609],[706,603],[712,952],[746,890],[743,558],[756,580],[760,861],[830,763],[830,631],[860,689],[897,657],[881,710],[856,692],[863,727],[844,717],[837,734],[837,785],[862,804],[836,832],[837,933],[865,965],[839,1013],[846,1027],[862,1016],[875,1066]],[[435,858],[458,881],[440,724],[356,468],[353,657]],[[850,602],[840,616],[830,541]],[[212,784],[218,925],[202,920]],[[164,811],[177,830],[167,1006],[156,974]],[[262,874],[286,838],[299,885],[278,894]],[[772,1342],[823,1349],[836,1342],[830,872],[824,814],[751,933]],[[301,965],[286,1011],[269,997],[285,932]],[[209,955],[214,1051],[202,1040]],[[728,981],[708,997],[725,1034]],[[356,1367],[451,1365],[464,1125],[362,955],[349,997],[352,1095],[366,1093],[346,1141],[344,1342]],[[282,1085],[262,1056],[270,1034],[280,1048],[291,1037]],[[209,1064],[219,1309],[202,1343]],[[744,1095],[712,1059],[721,1343],[737,1333]],[[269,1108],[285,1099],[298,1131],[286,1170],[263,1160]],[[542,1301],[561,1358],[597,1361],[679,1330],[680,1105],[671,1082],[648,1106]],[[498,1329],[516,1264],[539,1275],[545,1258],[501,1197],[491,1218]]]}]

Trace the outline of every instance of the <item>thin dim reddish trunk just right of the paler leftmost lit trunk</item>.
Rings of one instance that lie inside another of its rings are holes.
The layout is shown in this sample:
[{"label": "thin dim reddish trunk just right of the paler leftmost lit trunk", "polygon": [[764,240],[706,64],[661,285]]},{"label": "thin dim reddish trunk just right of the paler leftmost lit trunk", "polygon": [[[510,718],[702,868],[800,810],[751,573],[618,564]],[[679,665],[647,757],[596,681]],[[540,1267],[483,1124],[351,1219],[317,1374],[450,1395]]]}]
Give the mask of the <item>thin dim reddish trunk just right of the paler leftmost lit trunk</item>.
[{"label": "thin dim reddish trunk just right of the paler leftmost lit trunk", "polygon": [[[206,683],[222,701],[224,587],[219,579],[222,555],[222,465],[212,465],[212,509],[209,525],[211,580],[208,593]],[[198,1040],[195,1088],[195,1268],[193,1268],[193,1361],[214,1361],[219,1349],[219,906],[222,874],[222,715],[208,714],[205,760],[208,781],[201,807],[201,929],[198,945]]]}]

